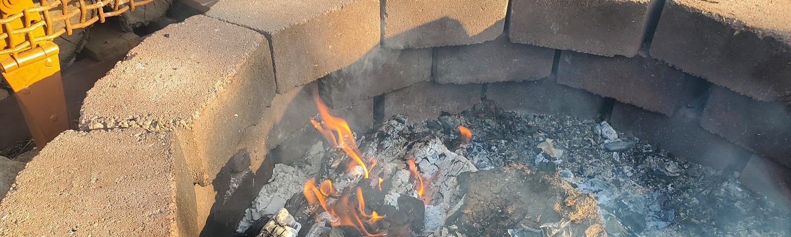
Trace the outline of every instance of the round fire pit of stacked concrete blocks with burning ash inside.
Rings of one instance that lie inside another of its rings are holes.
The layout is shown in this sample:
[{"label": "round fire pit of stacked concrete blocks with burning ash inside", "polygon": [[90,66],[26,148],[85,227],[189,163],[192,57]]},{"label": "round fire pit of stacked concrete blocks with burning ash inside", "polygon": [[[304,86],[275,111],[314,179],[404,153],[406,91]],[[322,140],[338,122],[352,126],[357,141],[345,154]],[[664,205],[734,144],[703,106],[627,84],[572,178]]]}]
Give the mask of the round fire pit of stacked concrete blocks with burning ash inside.
[{"label": "round fire pit of stacked concrete blocks with burning ash inside", "polygon": [[308,3],[147,36],[0,235],[791,235],[788,2]]}]

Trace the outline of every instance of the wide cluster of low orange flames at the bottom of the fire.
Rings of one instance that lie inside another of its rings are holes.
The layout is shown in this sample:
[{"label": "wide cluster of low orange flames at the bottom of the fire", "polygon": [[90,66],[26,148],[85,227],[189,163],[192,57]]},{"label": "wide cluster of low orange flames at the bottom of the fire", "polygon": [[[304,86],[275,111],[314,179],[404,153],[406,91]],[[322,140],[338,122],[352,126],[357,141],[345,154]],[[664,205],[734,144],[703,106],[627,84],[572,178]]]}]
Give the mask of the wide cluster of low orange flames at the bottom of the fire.
[{"label": "wide cluster of low orange flames at the bottom of the fire", "polygon": [[[316,187],[316,180],[309,179],[307,183],[305,183],[305,189],[303,190],[303,194],[305,194],[305,199],[308,200],[310,205],[321,205],[321,208],[324,209],[325,212],[330,213],[332,216],[338,218],[337,221],[332,222],[332,226],[350,226],[356,228],[360,231],[361,234],[365,236],[383,236],[384,233],[377,233],[373,234],[369,232],[364,222],[367,224],[373,224],[377,220],[381,220],[384,216],[379,216],[377,212],[372,212],[370,215],[365,213],[365,198],[362,196],[362,190],[360,187],[357,188],[357,205],[354,205],[354,201],[350,200],[348,195],[340,196],[339,199],[335,199],[335,201],[328,202],[328,198],[330,196],[325,195],[324,192],[324,184],[327,183],[327,186],[331,186],[328,180],[322,182],[322,190]],[[362,216],[361,219],[360,216]]]}]

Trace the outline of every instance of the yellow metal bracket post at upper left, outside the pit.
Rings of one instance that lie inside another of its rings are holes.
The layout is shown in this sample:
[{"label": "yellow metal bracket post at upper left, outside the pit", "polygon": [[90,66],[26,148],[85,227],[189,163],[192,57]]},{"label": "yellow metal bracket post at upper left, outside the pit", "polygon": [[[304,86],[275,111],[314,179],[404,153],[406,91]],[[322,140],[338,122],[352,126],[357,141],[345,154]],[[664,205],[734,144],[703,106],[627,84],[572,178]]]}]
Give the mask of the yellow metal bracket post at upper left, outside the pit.
[{"label": "yellow metal bracket post at upper left, outside the pit", "polygon": [[[0,69],[17,97],[30,134],[39,146],[44,146],[70,126],[60,77],[59,47],[51,40],[34,40],[44,36],[44,29],[33,25],[41,21],[40,14],[25,10],[34,7],[32,0],[0,0],[3,17],[23,14],[4,22],[3,29],[8,35],[0,41],[0,48],[25,47],[20,52],[0,55]],[[22,30],[15,32],[9,28]]]}]

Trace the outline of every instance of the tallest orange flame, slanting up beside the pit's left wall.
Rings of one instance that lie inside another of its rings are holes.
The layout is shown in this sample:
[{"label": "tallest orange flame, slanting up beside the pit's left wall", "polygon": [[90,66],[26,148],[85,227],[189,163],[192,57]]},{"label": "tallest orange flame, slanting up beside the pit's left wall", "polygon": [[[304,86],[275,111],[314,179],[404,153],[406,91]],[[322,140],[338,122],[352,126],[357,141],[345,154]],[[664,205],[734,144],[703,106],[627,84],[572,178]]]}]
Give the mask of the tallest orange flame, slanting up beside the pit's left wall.
[{"label": "tallest orange flame, slanting up beside the pit's left wall", "polygon": [[[356,161],[365,171],[365,179],[368,179],[368,173],[373,169],[373,166],[377,165],[377,161],[369,159],[368,162],[371,163],[371,169],[369,169],[368,165],[361,159],[362,152],[358,149],[357,142],[354,141],[354,134],[351,133],[346,120],[330,115],[327,105],[321,101],[318,92],[313,92],[313,98],[316,100],[316,107],[319,108],[319,115],[321,115],[321,121],[324,122],[324,125],[322,126],[322,124],[316,122],[316,119],[312,118],[310,122],[316,127],[316,130],[319,130],[324,135],[327,142],[332,146],[343,149],[343,152],[346,152],[347,155]],[[335,137],[335,134],[338,136]],[[350,164],[351,166],[354,166],[354,164]]]}]

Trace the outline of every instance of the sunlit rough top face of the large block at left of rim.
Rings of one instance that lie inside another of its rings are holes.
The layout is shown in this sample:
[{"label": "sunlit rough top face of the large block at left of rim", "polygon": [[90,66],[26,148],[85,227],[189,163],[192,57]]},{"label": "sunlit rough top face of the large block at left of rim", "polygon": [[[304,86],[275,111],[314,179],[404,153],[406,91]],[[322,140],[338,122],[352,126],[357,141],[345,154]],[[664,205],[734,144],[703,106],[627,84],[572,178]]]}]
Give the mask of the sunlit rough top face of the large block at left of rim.
[{"label": "sunlit rough top face of the large block at left of rim", "polygon": [[266,38],[206,16],[155,32],[87,92],[81,122],[97,118],[191,121],[225,90]]}]

